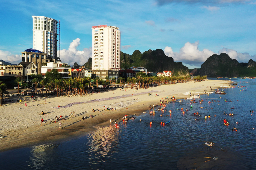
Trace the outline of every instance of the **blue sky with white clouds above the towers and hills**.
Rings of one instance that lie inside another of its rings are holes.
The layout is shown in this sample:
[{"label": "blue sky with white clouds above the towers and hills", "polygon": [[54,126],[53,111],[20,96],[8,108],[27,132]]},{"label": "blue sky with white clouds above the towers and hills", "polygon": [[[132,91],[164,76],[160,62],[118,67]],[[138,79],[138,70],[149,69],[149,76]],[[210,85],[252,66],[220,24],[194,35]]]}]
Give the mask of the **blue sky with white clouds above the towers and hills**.
[{"label": "blue sky with white clouds above the towers and hills", "polygon": [[33,48],[32,15],[61,21],[62,62],[92,56],[92,26],[117,26],[121,51],[161,48],[176,62],[200,68],[213,54],[256,61],[256,0],[6,1],[0,3],[0,58],[14,64]]}]

